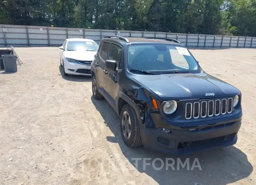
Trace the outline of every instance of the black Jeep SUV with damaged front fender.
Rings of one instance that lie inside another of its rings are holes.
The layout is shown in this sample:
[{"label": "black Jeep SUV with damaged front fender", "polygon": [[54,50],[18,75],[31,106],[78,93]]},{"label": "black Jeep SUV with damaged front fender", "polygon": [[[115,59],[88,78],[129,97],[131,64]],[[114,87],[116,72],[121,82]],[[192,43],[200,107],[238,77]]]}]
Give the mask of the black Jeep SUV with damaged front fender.
[{"label": "black Jeep SUV with damaged front fender", "polygon": [[93,97],[120,116],[123,141],[183,155],[234,145],[241,92],[170,38],[106,36],[91,66]]}]

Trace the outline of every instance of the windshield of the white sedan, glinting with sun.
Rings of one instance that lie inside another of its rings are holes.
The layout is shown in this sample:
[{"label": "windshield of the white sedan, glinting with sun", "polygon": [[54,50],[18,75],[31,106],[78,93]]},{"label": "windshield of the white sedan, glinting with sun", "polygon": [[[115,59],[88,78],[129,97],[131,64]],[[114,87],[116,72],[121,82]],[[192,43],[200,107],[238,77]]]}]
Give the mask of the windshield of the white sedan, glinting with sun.
[{"label": "windshield of the white sedan, glinting with sun", "polygon": [[97,51],[98,45],[89,41],[68,41],[67,51]]}]

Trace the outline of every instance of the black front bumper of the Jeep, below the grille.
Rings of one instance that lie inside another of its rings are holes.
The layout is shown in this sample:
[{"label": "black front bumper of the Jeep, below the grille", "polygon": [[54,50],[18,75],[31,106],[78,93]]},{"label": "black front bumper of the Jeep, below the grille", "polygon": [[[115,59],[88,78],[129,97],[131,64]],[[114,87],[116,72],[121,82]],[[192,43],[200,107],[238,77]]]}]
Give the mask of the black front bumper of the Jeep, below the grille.
[{"label": "black front bumper of the Jeep, below the grille", "polygon": [[241,127],[241,117],[217,122],[204,127],[170,129],[169,133],[163,128],[150,130],[143,125],[140,127],[141,139],[145,148],[150,148],[174,155],[187,155],[197,151],[234,145],[237,132]]}]

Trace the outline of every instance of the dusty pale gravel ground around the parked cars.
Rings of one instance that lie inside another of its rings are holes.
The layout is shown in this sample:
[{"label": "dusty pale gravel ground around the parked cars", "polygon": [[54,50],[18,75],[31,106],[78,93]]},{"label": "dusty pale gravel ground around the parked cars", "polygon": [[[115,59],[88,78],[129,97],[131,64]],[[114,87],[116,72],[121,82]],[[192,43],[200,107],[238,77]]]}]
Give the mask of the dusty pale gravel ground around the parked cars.
[{"label": "dusty pale gravel ground around the parked cars", "polygon": [[256,49],[191,49],[206,72],[242,91],[237,144],[181,157],[202,170],[136,166],[134,157],[177,157],[127,148],[115,112],[92,98],[91,78],[62,75],[58,48],[16,51],[25,64],[0,71],[0,184],[256,184]]}]

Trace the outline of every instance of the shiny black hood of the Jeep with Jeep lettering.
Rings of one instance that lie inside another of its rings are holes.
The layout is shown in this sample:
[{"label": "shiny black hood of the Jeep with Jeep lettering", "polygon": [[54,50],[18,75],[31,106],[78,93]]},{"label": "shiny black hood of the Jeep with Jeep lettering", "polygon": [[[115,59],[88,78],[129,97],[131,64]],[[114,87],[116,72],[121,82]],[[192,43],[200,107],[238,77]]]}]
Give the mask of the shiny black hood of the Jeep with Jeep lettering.
[{"label": "shiny black hood of the Jeep with Jeep lettering", "polygon": [[132,78],[146,86],[163,100],[170,98],[175,100],[207,99],[240,94],[240,91],[235,87],[207,73],[162,75],[133,74]]}]

